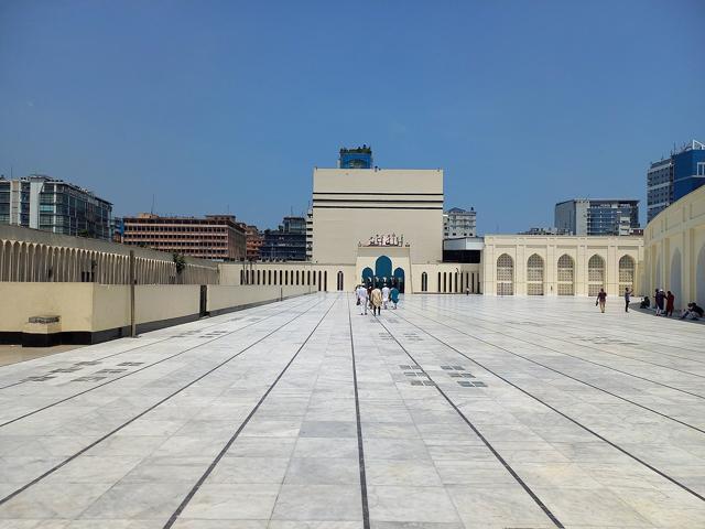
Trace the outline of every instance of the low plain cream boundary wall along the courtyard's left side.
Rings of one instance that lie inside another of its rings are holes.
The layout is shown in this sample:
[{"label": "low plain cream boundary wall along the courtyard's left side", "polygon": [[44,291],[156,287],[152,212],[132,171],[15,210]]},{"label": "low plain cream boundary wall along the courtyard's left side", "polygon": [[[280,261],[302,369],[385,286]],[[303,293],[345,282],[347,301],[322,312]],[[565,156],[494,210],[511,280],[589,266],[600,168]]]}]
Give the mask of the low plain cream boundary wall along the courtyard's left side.
[{"label": "low plain cream boundary wall along the courtyard's left side", "polygon": [[[155,331],[206,315],[239,311],[308,293],[308,287],[138,284],[134,287],[137,332]],[[59,316],[58,332],[47,338],[46,334],[26,331],[31,316],[47,315]],[[97,344],[129,334],[129,285],[0,283],[0,344]]]}]

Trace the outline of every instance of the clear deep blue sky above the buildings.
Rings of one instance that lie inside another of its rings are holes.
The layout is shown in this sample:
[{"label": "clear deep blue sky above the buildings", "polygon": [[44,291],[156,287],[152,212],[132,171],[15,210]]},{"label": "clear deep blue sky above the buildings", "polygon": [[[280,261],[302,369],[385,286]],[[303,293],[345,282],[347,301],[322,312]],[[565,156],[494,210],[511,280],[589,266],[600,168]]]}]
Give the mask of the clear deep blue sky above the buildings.
[{"label": "clear deep blue sky above the buildings", "polygon": [[371,144],[481,233],[705,141],[705,2],[0,0],[0,172],[273,227]]}]

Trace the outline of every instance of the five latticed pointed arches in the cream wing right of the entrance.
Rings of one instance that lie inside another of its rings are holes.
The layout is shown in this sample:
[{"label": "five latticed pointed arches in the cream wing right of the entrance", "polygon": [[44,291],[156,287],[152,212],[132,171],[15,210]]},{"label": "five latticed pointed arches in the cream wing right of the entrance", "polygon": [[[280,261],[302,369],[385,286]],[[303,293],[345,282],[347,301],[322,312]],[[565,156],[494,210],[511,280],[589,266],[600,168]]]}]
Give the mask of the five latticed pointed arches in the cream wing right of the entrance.
[{"label": "five latticed pointed arches in the cream wing right of the entrance", "polygon": [[[619,259],[619,291],[629,287],[633,289],[636,262],[631,256]],[[508,253],[497,258],[497,295],[514,294],[514,260]],[[575,260],[567,253],[556,261],[556,284],[558,295],[575,295]],[[527,294],[544,295],[545,263],[543,258],[533,253],[527,260]],[[607,288],[605,259],[598,253],[587,261],[587,295],[597,295],[600,289]]]}]

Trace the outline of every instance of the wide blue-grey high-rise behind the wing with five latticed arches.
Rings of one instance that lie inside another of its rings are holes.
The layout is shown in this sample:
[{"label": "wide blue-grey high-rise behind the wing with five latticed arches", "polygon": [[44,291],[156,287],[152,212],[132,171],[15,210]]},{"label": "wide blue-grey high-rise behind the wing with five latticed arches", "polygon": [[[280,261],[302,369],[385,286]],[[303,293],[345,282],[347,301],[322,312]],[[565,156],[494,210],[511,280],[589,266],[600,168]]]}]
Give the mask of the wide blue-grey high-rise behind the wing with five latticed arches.
[{"label": "wide blue-grey high-rise behind the wing with five latticed arches", "polygon": [[574,198],[555,205],[555,227],[571,235],[630,235],[639,201]]}]

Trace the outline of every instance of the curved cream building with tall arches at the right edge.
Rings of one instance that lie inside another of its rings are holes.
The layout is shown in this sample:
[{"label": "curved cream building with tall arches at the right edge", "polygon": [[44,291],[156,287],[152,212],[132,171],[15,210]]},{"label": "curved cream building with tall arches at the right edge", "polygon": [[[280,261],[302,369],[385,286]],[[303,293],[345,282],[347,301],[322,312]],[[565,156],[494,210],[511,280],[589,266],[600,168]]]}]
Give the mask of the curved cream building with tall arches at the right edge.
[{"label": "curved cream building with tall arches at the right edge", "polygon": [[644,291],[675,295],[675,307],[705,304],[705,186],[659,213],[644,229]]}]

